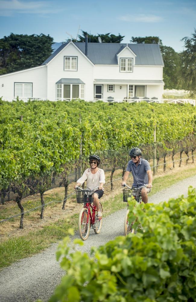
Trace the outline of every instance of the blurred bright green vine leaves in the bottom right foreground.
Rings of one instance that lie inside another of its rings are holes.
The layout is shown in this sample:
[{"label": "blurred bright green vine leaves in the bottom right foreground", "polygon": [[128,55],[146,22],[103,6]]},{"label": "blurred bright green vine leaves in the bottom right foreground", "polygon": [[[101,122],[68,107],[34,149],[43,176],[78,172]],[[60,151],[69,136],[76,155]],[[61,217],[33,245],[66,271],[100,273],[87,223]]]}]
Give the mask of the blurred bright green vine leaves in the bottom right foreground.
[{"label": "blurred bright green vine leaves in the bottom right foreground", "polygon": [[195,189],[189,188],[188,198],[146,204],[145,210],[130,201],[130,212],[145,232],[138,229],[94,247],[91,258],[79,251],[69,254],[70,241],[64,239],[57,253],[66,275],[49,301],[195,301]]}]

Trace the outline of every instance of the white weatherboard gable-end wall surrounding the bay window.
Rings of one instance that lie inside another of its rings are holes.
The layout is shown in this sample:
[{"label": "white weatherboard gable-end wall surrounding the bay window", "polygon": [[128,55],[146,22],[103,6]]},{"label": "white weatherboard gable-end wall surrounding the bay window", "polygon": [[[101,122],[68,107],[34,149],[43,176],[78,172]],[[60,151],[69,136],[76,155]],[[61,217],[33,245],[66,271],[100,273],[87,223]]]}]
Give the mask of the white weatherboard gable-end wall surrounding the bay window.
[{"label": "white weatherboard gable-end wall surrounding the bay window", "polygon": [[[78,57],[77,71],[64,71],[64,56]],[[56,99],[56,82],[60,79],[81,79],[85,83],[85,100],[93,100],[94,98],[94,65],[83,56],[83,54],[70,43],[67,47],[54,57],[47,64],[47,80],[48,80],[48,99],[55,101]]]}]

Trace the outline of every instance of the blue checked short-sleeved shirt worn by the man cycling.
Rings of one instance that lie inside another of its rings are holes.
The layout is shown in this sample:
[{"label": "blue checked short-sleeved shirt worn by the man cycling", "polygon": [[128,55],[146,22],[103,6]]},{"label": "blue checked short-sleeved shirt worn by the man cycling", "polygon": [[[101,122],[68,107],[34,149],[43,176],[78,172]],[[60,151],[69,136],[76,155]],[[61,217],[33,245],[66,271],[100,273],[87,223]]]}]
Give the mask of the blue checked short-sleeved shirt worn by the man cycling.
[{"label": "blue checked short-sleeved shirt worn by the man cycling", "polygon": [[127,165],[126,171],[129,171],[133,175],[133,188],[138,188],[141,185],[148,184],[148,175],[146,171],[151,170],[149,162],[146,159],[140,157],[138,165],[134,164],[133,160],[130,160]]}]

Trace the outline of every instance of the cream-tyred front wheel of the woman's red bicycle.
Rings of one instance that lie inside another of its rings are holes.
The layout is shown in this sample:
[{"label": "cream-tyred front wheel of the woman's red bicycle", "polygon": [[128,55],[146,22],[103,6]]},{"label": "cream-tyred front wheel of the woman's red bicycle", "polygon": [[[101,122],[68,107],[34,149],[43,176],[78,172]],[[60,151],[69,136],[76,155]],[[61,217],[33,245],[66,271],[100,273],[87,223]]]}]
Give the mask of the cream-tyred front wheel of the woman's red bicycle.
[{"label": "cream-tyred front wheel of the woman's red bicycle", "polygon": [[79,235],[82,240],[86,240],[90,231],[90,218],[88,217],[88,209],[82,208],[78,220]]}]

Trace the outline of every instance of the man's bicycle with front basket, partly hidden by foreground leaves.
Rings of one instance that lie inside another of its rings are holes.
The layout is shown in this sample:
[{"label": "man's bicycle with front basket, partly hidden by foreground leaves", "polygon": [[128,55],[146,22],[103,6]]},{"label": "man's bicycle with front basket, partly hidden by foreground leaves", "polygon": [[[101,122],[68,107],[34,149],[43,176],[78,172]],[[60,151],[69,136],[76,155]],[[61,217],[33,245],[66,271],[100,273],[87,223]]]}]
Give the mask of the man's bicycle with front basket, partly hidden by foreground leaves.
[{"label": "man's bicycle with front basket, partly hidden by foreground leaves", "polygon": [[[141,189],[146,187],[146,185],[142,185],[139,188],[130,188],[129,186],[127,186],[126,184],[123,185],[123,201],[127,202],[127,199],[130,198],[131,196],[133,196],[135,198],[135,200],[139,203],[142,202],[142,195],[141,195]],[[127,203],[128,206],[128,203]],[[133,224],[136,221],[136,219],[129,224],[128,221],[128,214],[129,214],[129,209],[127,210],[127,213],[124,217],[124,235],[127,236],[128,233],[135,233],[135,229],[133,228]],[[139,225],[138,227],[140,227],[142,229],[142,226]]]}]

